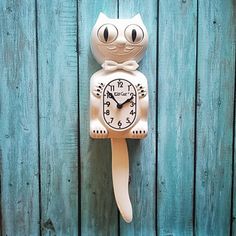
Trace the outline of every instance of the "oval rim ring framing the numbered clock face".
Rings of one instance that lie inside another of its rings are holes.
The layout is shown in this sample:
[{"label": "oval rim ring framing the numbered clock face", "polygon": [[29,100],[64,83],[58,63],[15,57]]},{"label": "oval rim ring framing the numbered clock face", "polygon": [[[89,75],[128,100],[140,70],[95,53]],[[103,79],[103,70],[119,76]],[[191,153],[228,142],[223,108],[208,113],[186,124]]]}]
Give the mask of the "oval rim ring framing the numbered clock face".
[{"label": "oval rim ring framing the numbered clock face", "polygon": [[[105,112],[105,109],[104,109],[104,108],[105,108],[105,105],[104,105],[104,96],[106,96],[106,94],[105,94],[106,88],[107,88],[107,86],[109,86],[110,83],[112,83],[112,82],[114,82],[114,81],[118,81],[118,80],[123,80],[123,81],[128,82],[128,83],[133,87],[133,89],[134,89],[134,91],[135,91],[135,117],[134,117],[134,119],[133,119],[133,122],[132,122],[129,126],[125,127],[125,128],[115,128],[115,127],[112,127],[112,126],[106,121],[105,115],[104,115],[104,112]],[[115,131],[115,132],[121,132],[121,131],[125,131],[125,130],[130,129],[130,128],[135,124],[135,121],[136,121],[136,119],[137,119],[137,101],[138,101],[137,96],[138,96],[138,92],[137,92],[136,87],[134,86],[134,84],[133,84],[132,82],[130,82],[130,81],[127,80],[127,79],[116,78],[116,79],[113,79],[113,80],[109,81],[109,82],[106,84],[106,86],[105,86],[104,89],[103,89],[103,95],[102,95],[102,117],[103,117],[104,123],[106,124],[107,127],[109,127],[109,129],[111,129],[111,130],[113,130],[113,131]]]}]

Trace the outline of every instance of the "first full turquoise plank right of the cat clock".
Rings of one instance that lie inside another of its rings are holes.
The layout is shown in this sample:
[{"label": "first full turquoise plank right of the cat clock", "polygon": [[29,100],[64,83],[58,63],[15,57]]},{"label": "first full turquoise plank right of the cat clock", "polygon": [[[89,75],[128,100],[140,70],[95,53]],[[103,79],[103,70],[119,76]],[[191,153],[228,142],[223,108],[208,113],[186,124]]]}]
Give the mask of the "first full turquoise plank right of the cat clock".
[{"label": "first full turquoise plank right of the cat clock", "polygon": [[159,1],[158,235],[192,235],[197,1]]}]

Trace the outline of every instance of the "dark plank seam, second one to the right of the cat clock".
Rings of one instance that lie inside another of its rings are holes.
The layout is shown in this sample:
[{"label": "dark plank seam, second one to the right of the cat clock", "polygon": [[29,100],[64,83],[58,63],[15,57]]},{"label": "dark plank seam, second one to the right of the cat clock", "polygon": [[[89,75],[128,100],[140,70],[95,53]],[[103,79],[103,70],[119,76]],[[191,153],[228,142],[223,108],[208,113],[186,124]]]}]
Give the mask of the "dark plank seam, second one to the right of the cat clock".
[{"label": "dark plank seam, second one to the right of the cat clock", "polygon": [[196,170],[197,170],[197,105],[198,105],[198,23],[199,23],[199,1],[197,0],[196,18],[196,58],[195,58],[195,104],[194,104],[194,157],[193,157],[193,210],[192,227],[193,235],[196,235]]}]

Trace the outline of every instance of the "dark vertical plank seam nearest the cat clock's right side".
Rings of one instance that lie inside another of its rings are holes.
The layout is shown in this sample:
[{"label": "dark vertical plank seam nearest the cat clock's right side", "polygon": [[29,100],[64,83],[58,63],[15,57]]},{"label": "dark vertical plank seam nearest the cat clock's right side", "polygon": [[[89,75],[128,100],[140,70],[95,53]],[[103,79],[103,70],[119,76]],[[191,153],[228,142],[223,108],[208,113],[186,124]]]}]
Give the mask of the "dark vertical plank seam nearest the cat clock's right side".
[{"label": "dark vertical plank seam nearest the cat clock's right side", "polygon": [[159,22],[160,22],[160,0],[157,0],[157,18],[156,18],[156,22],[157,22],[157,31],[156,31],[156,38],[157,38],[157,45],[156,45],[156,78],[157,78],[157,81],[156,81],[156,153],[155,153],[155,156],[156,156],[156,171],[155,171],[155,230],[156,230],[156,236],[158,235],[158,224],[157,224],[157,210],[158,210],[158,200],[157,200],[157,197],[158,197],[158,194],[157,194],[157,186],[158,186],[158,74],[159,74]]}]

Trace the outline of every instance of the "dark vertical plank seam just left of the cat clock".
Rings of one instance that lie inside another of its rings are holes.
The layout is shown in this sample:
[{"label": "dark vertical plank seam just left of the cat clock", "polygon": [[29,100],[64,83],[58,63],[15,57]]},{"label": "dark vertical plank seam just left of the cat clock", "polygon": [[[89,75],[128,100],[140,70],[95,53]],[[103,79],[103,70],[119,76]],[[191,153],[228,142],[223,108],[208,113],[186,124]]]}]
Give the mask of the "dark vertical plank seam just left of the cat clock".
[{"label": "dark vertical plank seam just left of the cat clock", "polygon": [[78,148],[78,235],[81,235],[81,150],[80,150],[80,98],[79,98],[79,0],[76,1],[76,55],[77,55],[77,109],[78,109],[78,131],[77,131],[77,148]]}]

